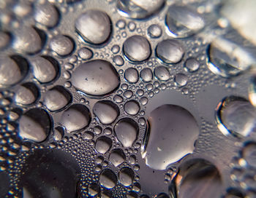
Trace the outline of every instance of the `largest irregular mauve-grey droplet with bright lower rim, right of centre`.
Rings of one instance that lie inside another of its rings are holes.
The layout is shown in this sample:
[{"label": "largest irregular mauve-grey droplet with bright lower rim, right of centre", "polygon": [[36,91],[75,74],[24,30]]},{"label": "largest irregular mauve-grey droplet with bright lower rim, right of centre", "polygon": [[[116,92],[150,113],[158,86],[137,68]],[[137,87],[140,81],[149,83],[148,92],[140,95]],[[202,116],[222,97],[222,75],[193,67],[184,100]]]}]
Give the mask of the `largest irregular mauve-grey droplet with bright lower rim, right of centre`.
[{"label": "largest irregular mauve-grey droplet with bright lower rim, right of centre", "polygon": [[146,165],[165,170],[194,150],[199,135],[197,122],[185,108],[163,105],[148,116],[148,127],[142,147]]}]

